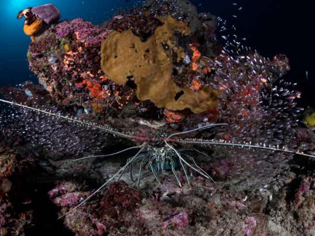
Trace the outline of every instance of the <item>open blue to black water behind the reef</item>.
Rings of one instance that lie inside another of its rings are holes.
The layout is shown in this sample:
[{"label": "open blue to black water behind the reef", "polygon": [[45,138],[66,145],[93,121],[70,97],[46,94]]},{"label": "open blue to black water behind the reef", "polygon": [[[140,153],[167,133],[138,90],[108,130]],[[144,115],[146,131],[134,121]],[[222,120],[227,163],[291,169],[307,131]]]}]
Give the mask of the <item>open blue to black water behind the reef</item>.
[{"label": "open blue to black water behind the reef", "polygon": [[[31,80],[38,84],[37,76],[29,69],[27,61],[30,36],[23,32],[24,18],[17,20],[20,10],[47,3],[55,4],[61,11],[61,20],[83,18],[98,25],[108,20],[115,11],[140,5],[142,1],[129,0],[1,0],[1,59],[0,88],[6,85],[15,87]],[[315,1],[288,0],[192,0],[200,12],[210,12],[227,21],[227,28],[236,27],[236,35],[246,38],[238,40],[244,46],[256,49],[264,57],[278,53],[289,58],[291,71],[285,81],[298,83],[295,89],[302,92],[298,100],[302,107],[315,108]],[[233,5],[235,2],[237,5]],[[199,5],[201,4],[201,5]],[[242,7],[241,10],[238,10]],[[111,10],[113,9],[113,10]],[[233,17],[236,15],[237,17]],[[220,26],[222,26],[222,23]],[[234,30],[223,33],[235,34]],[[220,43],[225,44],[220,33]],[[309,80],[306,79],[306,70]],[[0,104],[1,105],[1,104]]]}]

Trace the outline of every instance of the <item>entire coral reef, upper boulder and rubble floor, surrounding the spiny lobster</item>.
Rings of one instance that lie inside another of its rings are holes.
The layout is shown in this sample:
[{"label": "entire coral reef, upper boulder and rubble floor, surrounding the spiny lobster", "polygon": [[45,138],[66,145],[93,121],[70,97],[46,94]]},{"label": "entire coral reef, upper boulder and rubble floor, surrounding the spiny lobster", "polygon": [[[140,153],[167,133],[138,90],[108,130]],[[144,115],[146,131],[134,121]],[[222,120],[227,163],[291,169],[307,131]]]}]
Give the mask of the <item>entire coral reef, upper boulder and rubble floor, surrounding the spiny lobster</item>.
[{"label": "entire coral reef, upper boulder and rubble floor, surrounding the spiny lobster", "polygon": [[[22,89],[0,92],[63,118],[21,107],[1,115],[0,144],[7,145],[0,149],[1,234],[47,229],[34,194],[39,191],[44,206],[51,206],[52,228],[59,228],[59,215],[62,231],[78,236],[312,235],[313,159],[268,149],[314,155],[314,132],[296,120],[303,108],[294,99],[301,94],[279,80],[290,69],[288,59],[265,59],[238,43],[219,45],[216,26],[215,16],[197,14],[189,1],[149,0],[120,10],[101,27],[65,20],[34,36],[27,56],[41,85],[25,82]],[[93,122],[103,129],[87,127]],[[212,122],[228,125],[203,128]],[[182,169],[174,171],[182,188],[169,170],[158,172],[158,185],[145,161],[136,189],[129,177],[139,173],[140,163],[134,163],[134,173],[69,212],[136,152],[75,159],[145,142],[160,147],[177,133],[168,143],[197,148],[187,155],[215,183],[185,167],[190,185]],[[230,146],[210,148],[211,140]]]}]

